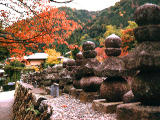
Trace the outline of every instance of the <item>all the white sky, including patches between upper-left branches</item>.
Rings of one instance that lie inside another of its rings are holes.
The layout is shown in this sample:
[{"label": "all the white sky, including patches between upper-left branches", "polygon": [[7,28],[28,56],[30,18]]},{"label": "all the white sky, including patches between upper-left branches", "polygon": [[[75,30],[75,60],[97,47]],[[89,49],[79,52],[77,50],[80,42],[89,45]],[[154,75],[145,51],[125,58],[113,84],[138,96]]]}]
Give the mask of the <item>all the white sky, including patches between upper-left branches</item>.
[{"label": "all the white sky, including patches between upper-left branches", "polygon": [[[7,3],[7,4],[13,6],[18,11],[26,11],[23,8],[20,8],[18,6],[14,6],[14,4],[11,3],[11,1],[17,1],[17,0],[0,0],[0,3]],[[23,1],[32,4],[32,0],[23,0]],[[62,2],[62,1],[68,1],[68,0],[56,0],[56,1]],[[89,10],[89,11],[99,11],[99,10],[108,8],[110,6],[113,6],[118,1],[120,1],[120,0],[73,0],[71,3],[67,3],[67,4],[59,4],[59,3],[56,4],[54,2],[48,3],[48,0],[42,0],[43,4],[46,4],[46,5],[50,4],[50,5],[56,6],[56,7],[67,6],[67,7],[71,7],[71,8],[85,9],[85,10]],[[8,9],[4,5],[0,4],[0,10],[9,11],[11,9]],[[11,19],[9,24],[12,24],[13,22],[17,21],[17,18],[20,17],[20,14],[16,13],[13,10],[11,10],[10,12],[12,14],[10,14],[10,16],[9,16],[9,18]],[[23,18],[26,18],[26,16],[24,16]],[[3,19],[3,18],[0,16],[0,19]],[[3,20],[3,21],[5,21],[5,20]],[[8,24],[8,22],[7,22],[7,24]]]}]

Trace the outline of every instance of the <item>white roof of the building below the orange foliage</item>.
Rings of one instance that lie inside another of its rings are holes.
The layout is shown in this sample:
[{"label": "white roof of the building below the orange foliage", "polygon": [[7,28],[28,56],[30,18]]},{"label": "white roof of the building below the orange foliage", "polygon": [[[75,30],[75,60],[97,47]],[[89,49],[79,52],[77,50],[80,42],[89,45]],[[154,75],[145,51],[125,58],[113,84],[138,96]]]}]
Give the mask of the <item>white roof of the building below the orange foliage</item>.
[{"label": "white roof of the building below the orange foliage", "polygon": [[30,59],[47,59],[48,54],[46,53],[34,53],[30,56],[25,56],[24,59],[30,60]]}]

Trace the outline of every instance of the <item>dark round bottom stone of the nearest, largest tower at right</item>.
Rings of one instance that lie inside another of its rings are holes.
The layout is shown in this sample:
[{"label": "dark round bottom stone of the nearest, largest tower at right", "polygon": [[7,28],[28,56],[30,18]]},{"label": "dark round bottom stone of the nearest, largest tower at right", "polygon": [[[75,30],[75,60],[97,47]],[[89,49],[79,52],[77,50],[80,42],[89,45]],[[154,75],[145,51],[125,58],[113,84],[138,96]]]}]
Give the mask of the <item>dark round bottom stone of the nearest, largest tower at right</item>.
[{"label": "dark round bottom stone of the nearest, largest tower at right", "polygon": [[160,72],[139,73],[132,82],[132,91],[143,105],[160,105]]}]

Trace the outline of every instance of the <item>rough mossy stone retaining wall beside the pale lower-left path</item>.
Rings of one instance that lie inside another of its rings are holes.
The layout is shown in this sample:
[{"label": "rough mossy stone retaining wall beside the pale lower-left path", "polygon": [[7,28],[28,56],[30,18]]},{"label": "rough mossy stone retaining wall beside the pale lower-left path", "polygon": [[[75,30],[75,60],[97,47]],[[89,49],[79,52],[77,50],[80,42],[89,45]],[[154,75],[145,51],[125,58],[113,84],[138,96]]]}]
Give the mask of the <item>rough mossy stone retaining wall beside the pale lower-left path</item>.
[{"label": "rough mossy stone retaining wall beside the pale lower-left path", "polygon": [[52,107],[46,92],[32,85],[17,82],[13,104],[13,120],[49,120]]}]

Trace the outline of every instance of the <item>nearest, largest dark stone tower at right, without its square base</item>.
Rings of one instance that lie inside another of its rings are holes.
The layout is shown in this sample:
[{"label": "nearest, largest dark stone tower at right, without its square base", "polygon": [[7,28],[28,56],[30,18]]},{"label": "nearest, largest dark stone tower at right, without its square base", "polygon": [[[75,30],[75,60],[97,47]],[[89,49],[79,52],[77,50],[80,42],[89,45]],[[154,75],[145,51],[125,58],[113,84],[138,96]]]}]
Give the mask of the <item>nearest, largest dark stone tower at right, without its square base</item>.
[{"label": "nearest, largest dark stone tower at right, without its square base", "polygon": [[126,64],[128,69],[139,70],[132,91],[142,104],[160,105],[160,6],[140,6],[135,21],[139,27],[134,29],[134,35],[139,44],[128,55]]}]

